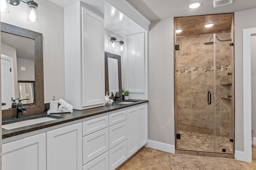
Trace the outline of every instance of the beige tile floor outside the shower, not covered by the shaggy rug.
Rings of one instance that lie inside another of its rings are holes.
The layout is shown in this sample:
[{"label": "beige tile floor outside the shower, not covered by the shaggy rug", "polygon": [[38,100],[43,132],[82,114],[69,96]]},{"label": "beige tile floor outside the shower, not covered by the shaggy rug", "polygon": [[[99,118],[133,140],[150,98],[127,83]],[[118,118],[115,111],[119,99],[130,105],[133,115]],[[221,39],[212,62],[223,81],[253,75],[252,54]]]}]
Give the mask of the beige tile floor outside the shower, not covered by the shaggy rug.
[{"label": "beige tile floor outside the shower, not covered by the shaggy rug", "polygon": [[[117,170],[170,170],[169,153],[142,147]],[[256,145],[252,147],[252,163],[241,162],[248,170],[256,170]]]}]

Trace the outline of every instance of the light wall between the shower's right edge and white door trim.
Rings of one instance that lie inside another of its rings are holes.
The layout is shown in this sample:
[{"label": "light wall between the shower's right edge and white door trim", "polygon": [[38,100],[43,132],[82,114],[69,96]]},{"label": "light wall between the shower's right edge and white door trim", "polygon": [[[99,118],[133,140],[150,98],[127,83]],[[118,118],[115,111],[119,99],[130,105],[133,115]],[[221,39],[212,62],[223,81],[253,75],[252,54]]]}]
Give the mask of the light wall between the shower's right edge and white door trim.
[{"label": "light wall between the shower's right edge and white door trim", "polygon": [[256,8],[234,13],[235,150],[244,151],[242,31],[256,27]]}]

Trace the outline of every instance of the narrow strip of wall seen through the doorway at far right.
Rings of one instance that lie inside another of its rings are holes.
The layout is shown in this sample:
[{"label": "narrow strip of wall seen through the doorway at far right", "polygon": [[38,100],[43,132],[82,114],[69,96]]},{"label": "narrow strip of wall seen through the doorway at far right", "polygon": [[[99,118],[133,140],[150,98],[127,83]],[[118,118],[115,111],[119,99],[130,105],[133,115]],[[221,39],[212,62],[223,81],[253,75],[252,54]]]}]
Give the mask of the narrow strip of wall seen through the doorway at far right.
[{"label": "narrow strip of wall seen through the doorway at far right", "polygon": [[[256,35],[251,39],[251,64],[252,64],[252,130],[256,137]],[[254,141],[256,144],[256,141]]]}]

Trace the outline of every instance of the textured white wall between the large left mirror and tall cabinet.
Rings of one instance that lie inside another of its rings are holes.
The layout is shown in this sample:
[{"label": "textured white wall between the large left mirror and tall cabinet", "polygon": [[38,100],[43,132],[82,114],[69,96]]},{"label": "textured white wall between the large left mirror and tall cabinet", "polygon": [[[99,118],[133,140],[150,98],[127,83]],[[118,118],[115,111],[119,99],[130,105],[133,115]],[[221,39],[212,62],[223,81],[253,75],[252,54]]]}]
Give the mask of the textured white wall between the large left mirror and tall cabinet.
[{"label": "textured white wall between the large left mirror and tall cabinet", "polygon": [[44,102],[65,98],[64,82],[64,9],[48,0],[38,0],[38,23],[27,21],[27,4],[10,5],[1,12],[1,22],[43,34]]}]

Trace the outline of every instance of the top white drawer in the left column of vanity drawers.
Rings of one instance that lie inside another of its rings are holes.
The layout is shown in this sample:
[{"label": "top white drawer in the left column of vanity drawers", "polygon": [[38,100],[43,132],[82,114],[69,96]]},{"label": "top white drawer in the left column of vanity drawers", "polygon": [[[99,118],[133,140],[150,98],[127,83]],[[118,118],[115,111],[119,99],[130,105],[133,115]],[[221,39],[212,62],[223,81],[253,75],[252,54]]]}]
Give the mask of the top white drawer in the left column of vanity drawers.
[{"label": "top white drawer in the left column of vanity drawers", "polygon": [[108,127],[108,115],[83,122],[83,136]]}]

